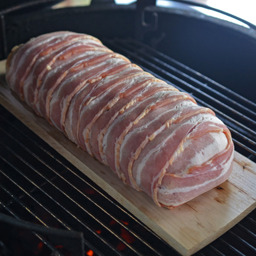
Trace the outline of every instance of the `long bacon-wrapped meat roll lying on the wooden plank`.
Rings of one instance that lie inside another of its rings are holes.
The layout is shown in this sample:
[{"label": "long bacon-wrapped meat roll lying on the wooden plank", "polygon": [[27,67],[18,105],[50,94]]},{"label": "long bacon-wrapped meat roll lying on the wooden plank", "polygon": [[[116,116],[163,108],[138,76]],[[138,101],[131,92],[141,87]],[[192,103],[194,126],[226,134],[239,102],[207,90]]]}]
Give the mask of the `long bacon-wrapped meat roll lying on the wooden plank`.
[{"label": "long bacon-wrapped meat roll lying on the wooden plank", "polygon": [[9,54],[10,88],[40,116],[172,209],[224,182],[233,143],[223,122],[95,37],[59,31]]}]

